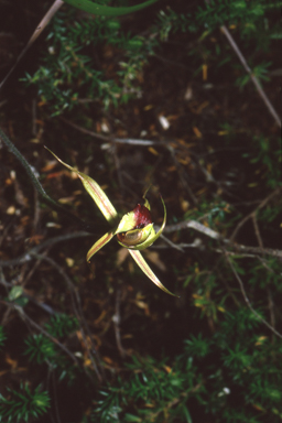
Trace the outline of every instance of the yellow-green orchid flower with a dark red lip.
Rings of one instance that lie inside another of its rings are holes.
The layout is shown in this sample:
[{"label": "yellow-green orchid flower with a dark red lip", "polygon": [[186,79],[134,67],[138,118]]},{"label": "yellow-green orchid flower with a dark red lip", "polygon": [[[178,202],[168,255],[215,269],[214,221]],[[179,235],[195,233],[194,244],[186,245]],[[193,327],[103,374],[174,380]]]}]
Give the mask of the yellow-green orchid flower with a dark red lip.
[{"label": "yellow-green orchid flower with a dark red lip", "polygon": [[[47,148],[46,148],[47,149]],[[48,150],[48,149],[47,149]],[[86,259],[89,262],[94,254],[99,251],[107,242],[111,240],[115,236],[117,236],[117,240],[120,246],[127,248],[135,260],[137,264],[142,269],[142,271],[147,274],[149,279],[153,283],[156,284],[162,291],[166,292],[170,295],[177,296],[166,290],[166,288],[162,284],[161,281],[153,273],[151,268],[148,265],[145,260],[143,259],[140,250],[143,250],[150,247],[162,234],[165,223],[166,223],[166,209],[164,202],[162,199],[163,209],[164,209],[164,218],[163,224],[158,232],[155,232],[151,213],[150,213],[150,203],[145,198],[147,192],[144,193],[144,204],[138,204],[132,212],[127,213],[121,220],[119,220],[118,213],[105,192],[101,187],[88,175],[78,172],[76,169],[69,166],[64,163],[61,159],[56,156],[51,150],[48,150],[64,166],[69,169],[69,171],[75,172],[79,178],[82,180],[85,189],[95,200],[96,205],[99,207],[101,213],[108,223],[112,226],[112,229],[105,234],[87,252]]]}]

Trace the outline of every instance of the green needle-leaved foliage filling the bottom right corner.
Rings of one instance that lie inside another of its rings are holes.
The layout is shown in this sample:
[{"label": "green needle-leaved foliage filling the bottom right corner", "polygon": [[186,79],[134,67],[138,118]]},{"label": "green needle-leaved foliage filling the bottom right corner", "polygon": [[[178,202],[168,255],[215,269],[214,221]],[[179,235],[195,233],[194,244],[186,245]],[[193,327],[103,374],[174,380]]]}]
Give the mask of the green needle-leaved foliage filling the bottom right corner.
[{"label": "green needle-leaved foliage filling the bottom right corner", "polygon": [[227,313],[212,337],[192,335],[171,365],[132,357],[130,377],[117,378],[100,392],[91,421],[193,422],[195,406],[203,420],[213,415],[216,422],[282,416],[282,341],[271,343],[260,326],[241,307]]}]

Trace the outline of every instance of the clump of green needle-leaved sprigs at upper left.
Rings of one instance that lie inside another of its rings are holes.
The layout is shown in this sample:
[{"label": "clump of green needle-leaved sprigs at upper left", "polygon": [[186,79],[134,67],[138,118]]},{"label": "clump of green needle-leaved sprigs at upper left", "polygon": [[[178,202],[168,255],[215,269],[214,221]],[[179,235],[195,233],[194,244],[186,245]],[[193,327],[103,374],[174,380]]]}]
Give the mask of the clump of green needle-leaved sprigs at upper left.
[{"label": "clump of green needle-leaved sprigs at upper left", "polygon": [[[89,101],[118,106],[141,96],[138,80],[155,45],[154,39],[126,33],[115,19],[61,11],[51,24],[44,64],[24,80],[39,87],[53,116]],[[102,55],[118,59],[102,69]]]}]

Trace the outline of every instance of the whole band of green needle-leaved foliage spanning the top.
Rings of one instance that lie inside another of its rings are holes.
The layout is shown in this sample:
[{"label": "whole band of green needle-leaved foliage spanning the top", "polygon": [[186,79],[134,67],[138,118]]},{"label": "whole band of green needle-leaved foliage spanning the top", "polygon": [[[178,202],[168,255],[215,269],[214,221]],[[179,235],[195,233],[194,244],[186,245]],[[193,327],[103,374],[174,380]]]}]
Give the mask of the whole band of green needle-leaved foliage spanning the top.
[{"label": "whole band of green needle-leaved foliage spanning the top", "polygon": [[[143,36],[126,30],[118,18],[96,15],[93,19],[79,15],[75,9],[63,9],[48,26],[42,65],[23,80],[37,87],[41,105],[52,116],[78,107],[87,109],[91,102],[106,109],[118,107],[142,97],[144,66],[160,42],[169,41],[176,31],[189,32],[199,41],[199,45],[189,51],[195,74],[202,70],[203,62],[213,63],[216,68],[229,64],[230,47],[226,43],[206,42],[212,31],[224,23],[245,40],[253,56],[262,48],[267,51],[281,32],[278,25],[268,24],[269,10],[272,9],[268,3],[260,0],[212,0],[192,8],[189,13],[167,8],[160,10],[156,22],[147,30],[150,35]],[[109,66],[105,66],[109,58]],[[268,82],[271,64],[258,63],[257,56],[249,59],[253,62],[253,74],[261,82]],[[232,68],[237,69],[238,65],[232,64]],[[235,79],[243,88],[250,76],[241,66],[239,69],[241,75],[236,70]]]}]

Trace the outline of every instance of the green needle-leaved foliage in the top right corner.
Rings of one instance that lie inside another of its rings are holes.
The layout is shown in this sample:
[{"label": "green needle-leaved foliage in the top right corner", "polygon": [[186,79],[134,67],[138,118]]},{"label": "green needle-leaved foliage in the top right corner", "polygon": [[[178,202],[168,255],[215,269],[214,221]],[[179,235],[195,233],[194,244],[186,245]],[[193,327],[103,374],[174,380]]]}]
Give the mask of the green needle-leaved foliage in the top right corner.
[{"label": "green needle-leaved foliage in the top right corner", "polygon": [[[278,40],[281,34],[279,24],[269,24],[272,8],[279,9],[280,3],[270,4],[260,0],[212,0],[204,2],[204,6],[195,8],[194,12],[177,13],[172,9],[160,11],[155,32],[162,42],[169,41],[170,34],[176,31],[195,33],[200,47],[189,51],[189,56],[194,62],[195,75],[202,72],[203,63],[219,69],[225,66],[226,72],[231,69],[237,74],[235,84],[241,89],[250,82],[250,75],[246,74],[241,64],[231,61],[230,46],[217,40],[213,44],[208,42],[212,32],[218,31],[220,25],[231,29],[235,36],[243,40],[242,53],[248,48],[253,53],[249,54],[248,63],[252,74],[261,82],[267,83],[269,78],[270,62],[258,62],[261,51],[267,52],[272,40]],[[217,35],[218,33],[216,33]],[[213,34],[214,35],[214,34]],[[238,73],[240,74],[238,76]]]}]

